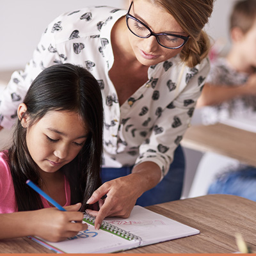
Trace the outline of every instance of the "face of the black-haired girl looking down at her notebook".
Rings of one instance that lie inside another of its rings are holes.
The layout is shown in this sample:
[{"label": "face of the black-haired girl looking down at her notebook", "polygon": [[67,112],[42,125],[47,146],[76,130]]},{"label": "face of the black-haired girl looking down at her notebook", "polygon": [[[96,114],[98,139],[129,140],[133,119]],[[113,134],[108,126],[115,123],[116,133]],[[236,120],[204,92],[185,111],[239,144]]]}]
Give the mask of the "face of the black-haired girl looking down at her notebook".
[{"label": "face of the black-haired girl looking down at her notebook", "polygon": [[[28,125],[28,119],[22,120],[22,126]],[[87,136],[88,131],[76,112],[49,111],[28,127],[26,142],[39,171],[53,173],[77,156]]]}]

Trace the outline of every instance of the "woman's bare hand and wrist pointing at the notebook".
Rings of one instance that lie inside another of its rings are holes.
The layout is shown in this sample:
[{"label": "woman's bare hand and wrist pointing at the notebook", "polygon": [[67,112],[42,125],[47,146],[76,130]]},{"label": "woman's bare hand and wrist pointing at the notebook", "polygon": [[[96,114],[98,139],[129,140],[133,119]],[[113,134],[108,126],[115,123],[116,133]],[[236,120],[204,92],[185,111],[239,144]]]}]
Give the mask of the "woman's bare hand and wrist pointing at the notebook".
[{"label": "woman's bare hand and wrist pointing at the notebook", "polygon": [[[100,210],[86,212],[95,219],[95,228],[99,229],[102,220],[106,216],[118,216],[128,218],[136,200],[148,189],[153,188],[159,182],[161,170],[152,162],[138,164],[130,175],[105,182],[99,189],[94,191],[88,204],[99,201]],[[100,198],[106,195],[104,202]]]}]

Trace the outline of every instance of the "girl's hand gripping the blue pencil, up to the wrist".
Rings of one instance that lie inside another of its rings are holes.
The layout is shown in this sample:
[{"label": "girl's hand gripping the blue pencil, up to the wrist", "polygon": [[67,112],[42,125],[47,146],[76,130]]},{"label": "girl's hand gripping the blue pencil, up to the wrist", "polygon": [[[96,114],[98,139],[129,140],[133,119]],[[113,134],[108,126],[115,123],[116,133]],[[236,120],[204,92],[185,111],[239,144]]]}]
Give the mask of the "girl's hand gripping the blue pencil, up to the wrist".
[{"label": "girl's hand gripping the blue pencil, up to the wrist", "polygon": [[57,208],[33,211],[30,225],[35,228],[34,236],[59,242],[67,237],[76,236],[79,231],[86,230],[88,226],[82,223],[83,212],[79,212],[80,207],[79,203],[64,207],[67,211],[60,211]]}]

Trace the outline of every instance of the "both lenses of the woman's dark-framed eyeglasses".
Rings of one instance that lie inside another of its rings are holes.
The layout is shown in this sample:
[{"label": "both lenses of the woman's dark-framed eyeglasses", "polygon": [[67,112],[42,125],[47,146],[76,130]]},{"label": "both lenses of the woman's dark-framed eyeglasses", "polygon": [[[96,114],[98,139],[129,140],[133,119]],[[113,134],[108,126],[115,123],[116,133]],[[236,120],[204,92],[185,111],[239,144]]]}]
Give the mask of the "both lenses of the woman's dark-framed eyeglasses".
[{"label": "both lenses of the woman's dark-framed eyeglasses", "polygon": [[[151,35],[151,32],[142,22],[134,20],[132,17],[128,17],[127,25],[132,33],[134,33],[136,36],[147,38]],[[172,35],[157,35],[157,40],[159,44],[163,45],[164,47],[176,48],[184,44],[184,39]]]}]

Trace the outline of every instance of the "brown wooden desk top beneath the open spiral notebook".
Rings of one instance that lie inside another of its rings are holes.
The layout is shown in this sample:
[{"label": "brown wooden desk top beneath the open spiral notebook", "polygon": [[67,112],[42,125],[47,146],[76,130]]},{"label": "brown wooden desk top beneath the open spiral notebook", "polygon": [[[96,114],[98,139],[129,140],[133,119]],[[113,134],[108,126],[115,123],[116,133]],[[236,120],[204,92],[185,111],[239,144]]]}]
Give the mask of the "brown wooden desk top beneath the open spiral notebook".
[{"label": "brown wooden desk top beneath the open spiral notebook", "polygon": [[[232,253],[240,232],[256,252],[256,203],[239,196],[207,195],[147,207],[197,228],[200,234],[123,253]],[[27,237],[0,241],[1,253],[52,253]]]}]

